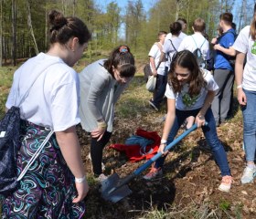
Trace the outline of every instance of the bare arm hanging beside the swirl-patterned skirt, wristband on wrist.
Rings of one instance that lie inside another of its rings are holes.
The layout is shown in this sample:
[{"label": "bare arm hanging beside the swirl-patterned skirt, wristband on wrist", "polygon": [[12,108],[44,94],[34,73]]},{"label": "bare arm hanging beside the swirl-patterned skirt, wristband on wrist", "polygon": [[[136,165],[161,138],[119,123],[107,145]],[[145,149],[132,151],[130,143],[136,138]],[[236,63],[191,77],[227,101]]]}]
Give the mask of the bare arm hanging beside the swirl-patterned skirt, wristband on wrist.
[{"label": "bare arm hanging beside the swirl-patterned skirt, wristband on wrist", "polygon": [[60,151],[67,162],[70,171],[76,179],[82,181],[81,183],[77,183],[76,180],[78,196],[73,200],[73,203],[79,203],[87,195],[89,185],[86,181],[85,170],[81,160],[80,143],[76,134],[76,128],[73,126],[67,130],[56,131],[56,138]]}]

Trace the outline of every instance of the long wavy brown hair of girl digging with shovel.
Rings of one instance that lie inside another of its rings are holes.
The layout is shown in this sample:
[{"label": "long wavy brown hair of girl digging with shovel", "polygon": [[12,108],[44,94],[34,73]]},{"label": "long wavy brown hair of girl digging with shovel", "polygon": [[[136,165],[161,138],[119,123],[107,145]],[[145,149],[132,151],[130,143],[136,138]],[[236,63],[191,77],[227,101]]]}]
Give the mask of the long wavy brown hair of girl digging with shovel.
[{"label": "long wavy brown hair of girl digging with shovel", "polygon": [[196,57],[190,51],[183,50],[176,53],[168,74],[168,83],[174,89],[175,93],[180,92],[182,89],[182,85],[176,78],[176,66],[187,68],[190,71],[188,78],[188,94],[190,97],[197,96],[201,89],[207,86],[202,70],[198,67]]}]

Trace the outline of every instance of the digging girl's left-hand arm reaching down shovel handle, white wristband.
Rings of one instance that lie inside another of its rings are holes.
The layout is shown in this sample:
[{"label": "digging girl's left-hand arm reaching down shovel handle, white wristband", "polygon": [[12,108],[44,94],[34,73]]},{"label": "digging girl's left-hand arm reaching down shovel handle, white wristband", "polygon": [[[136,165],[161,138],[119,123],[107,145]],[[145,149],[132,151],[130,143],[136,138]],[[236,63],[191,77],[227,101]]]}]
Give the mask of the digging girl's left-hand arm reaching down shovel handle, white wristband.
[{"label": "digging girl's left-hand arm reaching down shovel handle, white wristband", "polygon": [[165,143],[161,143],[158,152],[164,152],[166,141],[171,128],[173,127],[176,118],[176,99],[167,99],[167,114],[165,118],[165,126],[163,130],[162,140]]}]

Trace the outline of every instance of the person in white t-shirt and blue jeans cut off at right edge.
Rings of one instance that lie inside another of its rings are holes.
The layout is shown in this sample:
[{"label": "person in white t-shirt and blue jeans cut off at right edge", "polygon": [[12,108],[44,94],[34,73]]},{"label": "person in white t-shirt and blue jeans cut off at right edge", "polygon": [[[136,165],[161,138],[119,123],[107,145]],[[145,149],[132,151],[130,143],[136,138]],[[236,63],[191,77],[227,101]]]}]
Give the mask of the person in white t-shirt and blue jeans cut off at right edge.
[{"label": "person in white t-shirt and blue jeans cut off at right edge", "polygon": [[240,31],[233,48],[237,51],[235,74],[243,115],[243,141],[247,162],[241,183],[251,183],[256,175],[256,4],[251,26],[245,26]]}]

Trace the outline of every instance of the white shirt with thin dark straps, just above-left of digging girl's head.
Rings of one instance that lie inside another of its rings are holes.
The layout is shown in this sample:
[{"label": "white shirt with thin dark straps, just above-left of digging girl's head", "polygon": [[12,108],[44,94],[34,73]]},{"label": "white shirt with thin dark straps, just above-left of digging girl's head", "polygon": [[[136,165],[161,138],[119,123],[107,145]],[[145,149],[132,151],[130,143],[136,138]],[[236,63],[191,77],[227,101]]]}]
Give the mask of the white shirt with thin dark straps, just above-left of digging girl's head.
[{"label": "white shirt with thin dark straps, just above-left of digging girl's head", "polygon": [[167,61],[165,61],[165,67],[170,68],[171,59],[176,53],[181,41],[182,39],[180,37],[171,37],[170,39],[165,40],[163,47],[163,52],[165,53],[165,57],[167,59]]}]

